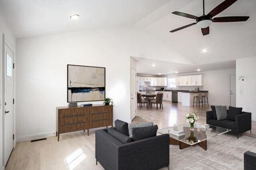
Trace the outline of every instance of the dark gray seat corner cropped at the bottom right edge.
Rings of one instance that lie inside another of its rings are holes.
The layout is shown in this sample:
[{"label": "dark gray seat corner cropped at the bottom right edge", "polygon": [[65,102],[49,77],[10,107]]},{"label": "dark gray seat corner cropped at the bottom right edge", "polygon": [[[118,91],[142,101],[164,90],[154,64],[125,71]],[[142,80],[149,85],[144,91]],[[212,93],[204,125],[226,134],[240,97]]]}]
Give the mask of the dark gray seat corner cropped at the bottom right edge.
[{"label": "dark gray seat corner cropped at the bottom right edge", "polygon": [[256,153],[247,151],[244,153],[244,170],[256,169]]}]

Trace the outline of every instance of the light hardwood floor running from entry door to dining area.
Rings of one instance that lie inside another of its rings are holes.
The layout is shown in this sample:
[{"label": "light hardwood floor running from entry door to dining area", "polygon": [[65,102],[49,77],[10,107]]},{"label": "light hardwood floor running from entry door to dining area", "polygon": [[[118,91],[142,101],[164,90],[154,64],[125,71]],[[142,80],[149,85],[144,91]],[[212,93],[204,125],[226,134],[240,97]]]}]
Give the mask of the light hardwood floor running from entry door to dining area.
[{"label": "light hardwood floor running from entry door to dining area", "polygon": [[[163,106],[163,110],[156,110],[156,107],[150,110],[146,107],[142,107],[141,110],[138,108],[137,117],[132,123],[153,121],[159,129],[162,129],[173,124],[185,123],[185,115],[192,111],[198,111],[200,116],[198,122],[205,123],[206,111],[210,110],[210,107],[186,107],[171,102],[163,102]],[[246,132],[243,135],[256,138],[256,122],[252,122],[252,134]],[[70,153],[80,148],[84,152],[79,153],[82,156],[78,156],[78,159],[66,165],[65,158],[73,160],[77,156],[72,158],[69,156]],[[95,130],[91,130],[90,136],[87,136],[86,132],[60,135],[59,142],[57,137],[49,137],[45,141],[17,143],[6,170],[65,170],[72,169],[75,165],[74,170],[102,170],[102,166],[99,163],[96,165],[95,161]]]}]

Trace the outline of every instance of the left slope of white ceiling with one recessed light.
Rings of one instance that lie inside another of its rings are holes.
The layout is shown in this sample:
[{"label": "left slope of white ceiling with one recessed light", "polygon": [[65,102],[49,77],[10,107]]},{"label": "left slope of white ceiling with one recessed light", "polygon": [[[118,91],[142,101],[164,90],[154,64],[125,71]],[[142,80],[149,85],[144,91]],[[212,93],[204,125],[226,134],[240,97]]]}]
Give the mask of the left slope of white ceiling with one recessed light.
[{"label": "left slope of white ceiling with one recessed light", "polygon": [[[0,0],[0,10],[18,38],[130,25],[169,0]],[[71,20],[79,14],[79,20]]]}]

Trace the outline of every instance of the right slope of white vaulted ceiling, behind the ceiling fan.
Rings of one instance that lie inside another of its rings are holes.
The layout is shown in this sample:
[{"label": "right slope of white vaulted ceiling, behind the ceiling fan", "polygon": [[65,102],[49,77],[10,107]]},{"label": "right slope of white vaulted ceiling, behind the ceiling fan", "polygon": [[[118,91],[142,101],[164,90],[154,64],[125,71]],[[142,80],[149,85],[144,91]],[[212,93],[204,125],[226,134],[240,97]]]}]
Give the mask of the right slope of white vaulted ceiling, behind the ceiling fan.
[{"label": "right slope of white vaulted ceiling, behind the ceiling fan", "polygon": [[[223,1],[205,0],[206,14]],[[182,7],[172,6],[179,2],[180,0],[171,0],[164,5],[170,9],[169,13],[166,13],[164,10],[166,8],[162,6],[154,12],[155,15],[146,16],[146,19],[138,21],[136,25],[144,27],[149,33],[168,43],[194,64],[217,63],[256,56],[256,0],[238,0],[216,16],[250,16],[248,21],[212,23],[210,34],[206,36],[202,35],[196,25],[174,33],[169,32],[194,22],[193,19],[180,17],[171,12],[177,10],[196,16],[202,15],[202,0],[187,1],[188,3]],[[160,16],[157,20],[155,20],[156,15]],[[208,53],[201,53],[203,48],[208,49]]]}]

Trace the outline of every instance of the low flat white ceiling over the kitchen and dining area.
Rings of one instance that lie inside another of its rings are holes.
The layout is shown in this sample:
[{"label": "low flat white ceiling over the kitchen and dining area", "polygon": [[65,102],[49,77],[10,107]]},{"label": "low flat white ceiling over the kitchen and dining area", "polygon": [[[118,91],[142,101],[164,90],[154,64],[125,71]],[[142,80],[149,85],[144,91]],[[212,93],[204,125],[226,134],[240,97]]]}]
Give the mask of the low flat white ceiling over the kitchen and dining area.
[{"label": "low flat white ceiling over the kitchen and dining area", "polygon": [[[236,68],[236,61],[225,61],[220,63],[210,63],[210,64],[201,64],[201,65],[189,65],[189,64],[180,64],[159,60],[151,60],[133,57],[137,61],[136,71],[138,74],[172,74],[178,71],[179,73],[184,72],[196,72],[198,68],[201,71],[210,71],[210,70],[222,70],[222,69],[231,69]],[[155,64],[156,66],[152,66]]]}]

